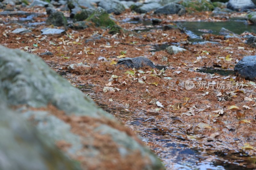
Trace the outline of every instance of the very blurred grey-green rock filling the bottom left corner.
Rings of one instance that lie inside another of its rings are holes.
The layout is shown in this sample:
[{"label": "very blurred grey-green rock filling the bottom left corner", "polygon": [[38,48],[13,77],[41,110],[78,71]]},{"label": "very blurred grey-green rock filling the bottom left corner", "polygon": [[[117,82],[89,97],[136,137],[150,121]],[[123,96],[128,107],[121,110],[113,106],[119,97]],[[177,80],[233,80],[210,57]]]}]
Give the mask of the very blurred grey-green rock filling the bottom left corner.
[{"label": "very blurred grey-green rock filling the bottom left corner", "polygon": [[25,121],[22,113],[12,111],[7,105],[0,99],[1,170],[81,169],[60,152],[52,139]]}]

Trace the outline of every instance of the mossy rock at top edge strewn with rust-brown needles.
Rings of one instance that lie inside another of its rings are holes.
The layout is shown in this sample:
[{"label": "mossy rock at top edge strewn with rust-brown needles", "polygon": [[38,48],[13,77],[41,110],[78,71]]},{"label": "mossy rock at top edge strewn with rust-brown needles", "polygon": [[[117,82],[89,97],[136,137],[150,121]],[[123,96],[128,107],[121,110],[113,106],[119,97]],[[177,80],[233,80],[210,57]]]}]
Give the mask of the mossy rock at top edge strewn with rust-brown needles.
[{"label": "mossy rock at top edge strewn with rust-brown needles", "polygon": [[189,13],[196,11],[212,11],[214,9],[213,4],[207,0],[184,0],[181,4]]}]

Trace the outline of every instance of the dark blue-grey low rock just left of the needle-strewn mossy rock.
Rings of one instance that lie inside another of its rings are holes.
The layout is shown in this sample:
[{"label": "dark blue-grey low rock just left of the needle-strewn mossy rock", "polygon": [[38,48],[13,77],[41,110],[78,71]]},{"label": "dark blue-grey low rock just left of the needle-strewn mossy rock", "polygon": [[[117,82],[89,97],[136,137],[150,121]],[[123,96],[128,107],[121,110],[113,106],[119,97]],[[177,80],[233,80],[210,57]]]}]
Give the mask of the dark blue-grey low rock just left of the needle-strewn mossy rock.
[{"label": "dark blue-grey low rock just left of the needle-strewn mossy rock", "polygon": [[176,3],[169,3],[166,4],[154,12],[155,14],[178,14],[178,15],[184,15],[186,13],[185,8]]}]

